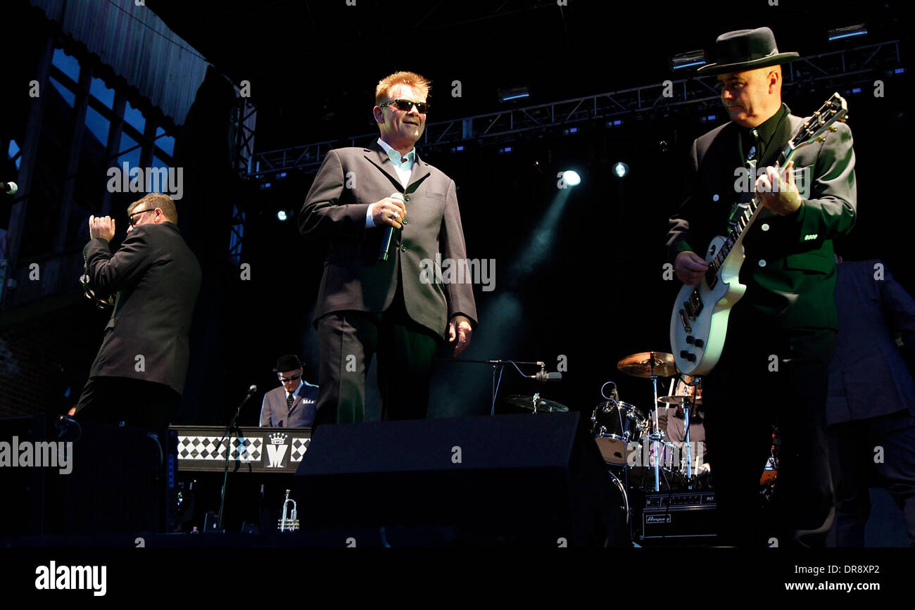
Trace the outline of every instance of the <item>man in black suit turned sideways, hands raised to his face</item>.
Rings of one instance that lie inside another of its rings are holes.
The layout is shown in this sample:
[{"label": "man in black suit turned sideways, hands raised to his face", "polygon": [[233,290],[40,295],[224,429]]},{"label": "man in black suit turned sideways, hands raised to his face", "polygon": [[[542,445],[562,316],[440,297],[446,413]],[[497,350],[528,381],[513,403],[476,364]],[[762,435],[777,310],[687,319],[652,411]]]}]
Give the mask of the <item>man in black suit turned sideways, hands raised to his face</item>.
[{"label": "man in black suit turned sideways, hands raised to his face", "polygon": [[163,428],[188,374],[188,330],[200,265],[178,230],[172,198],[150,193],[127,209],[127,236],[112,252],[114,220],[89,218],[83,249],[92,289],[116,294],[102,347],[76,406],[81,421]]}]

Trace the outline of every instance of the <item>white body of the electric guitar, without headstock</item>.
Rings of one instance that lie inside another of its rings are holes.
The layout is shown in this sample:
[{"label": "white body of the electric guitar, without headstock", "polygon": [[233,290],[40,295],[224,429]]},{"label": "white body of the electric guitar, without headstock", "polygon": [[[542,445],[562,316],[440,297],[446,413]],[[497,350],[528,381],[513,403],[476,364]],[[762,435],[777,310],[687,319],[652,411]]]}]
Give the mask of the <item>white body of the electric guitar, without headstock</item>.
[{"label": "white body of the electric guitar, without headstock", "polygon": [[[724,237],[712,240],[705,262],[715,258],[725,241]],[[738,277],[743,262],[743,244],[738,242],[716,273],[714,286],[704,276],[699,284],[684,284],[677,294],[671,315],[671,347],[673,361],[685,375],[706,375],[721,358],[731,307],[747,291]]]}]

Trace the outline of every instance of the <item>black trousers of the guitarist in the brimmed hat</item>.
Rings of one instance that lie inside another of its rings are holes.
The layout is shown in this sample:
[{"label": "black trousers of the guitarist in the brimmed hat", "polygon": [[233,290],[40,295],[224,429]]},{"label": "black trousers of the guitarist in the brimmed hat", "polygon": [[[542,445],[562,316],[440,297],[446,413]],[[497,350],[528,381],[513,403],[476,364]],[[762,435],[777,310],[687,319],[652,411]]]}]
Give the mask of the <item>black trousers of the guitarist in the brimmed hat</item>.
[{"label": "black trousers of the guitarist in the brimmed hat", "polygon": [[[834,516],[825,425],[835,332],[730,333],[703,379],[705,433],[723,544],[823,546]],[[760,476],[772,425],[780,464],[771,522],[763,522]],[[774,545],[774,544],[773,544]]]}]

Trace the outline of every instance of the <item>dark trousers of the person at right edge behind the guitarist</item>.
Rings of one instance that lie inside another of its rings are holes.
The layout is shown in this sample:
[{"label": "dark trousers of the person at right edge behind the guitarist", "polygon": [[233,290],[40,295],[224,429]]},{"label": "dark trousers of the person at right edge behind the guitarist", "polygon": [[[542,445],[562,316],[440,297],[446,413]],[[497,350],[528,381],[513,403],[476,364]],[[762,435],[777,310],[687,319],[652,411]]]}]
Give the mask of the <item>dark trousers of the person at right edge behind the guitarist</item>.
[{"label": "dark trousers of the person at right edge behind the guitarist", "polygon": [[915,547],[915,418],[901,411],[829,428],[835,487],[834,542],[863,547],[869,487],[883,487],[902,511]]}]

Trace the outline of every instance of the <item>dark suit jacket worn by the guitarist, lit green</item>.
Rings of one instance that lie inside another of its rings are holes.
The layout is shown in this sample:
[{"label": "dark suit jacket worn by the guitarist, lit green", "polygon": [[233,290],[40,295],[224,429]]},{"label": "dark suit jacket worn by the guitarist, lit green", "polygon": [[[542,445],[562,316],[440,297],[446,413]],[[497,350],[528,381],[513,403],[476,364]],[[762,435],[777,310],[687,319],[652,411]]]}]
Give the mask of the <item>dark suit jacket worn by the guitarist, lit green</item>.
[{"label": "dark suit jacket worn by the guitarist, lit green", "polygon": [[[789,114],[772,138],[760,173],[773,165],[791,134],[803,123]],[[847,233],[856,219],[855,151],[851,130],[838,131],[824,143],[800,148],[794,156],[802,194],[801,209],[779,216],[768,208],[744,238],[746,260],[740,283],[747,292],[735,305],[729,326],[835,328],[835,262],[832,240]],[[742,167],[735,123],[726,123],[693,143],[690,195],[671,217],[667,233],[671,262],[682,251],[705,256],[709,241],[727,232],[727,222],[741,188],[753,187],[735,170]]]}]

